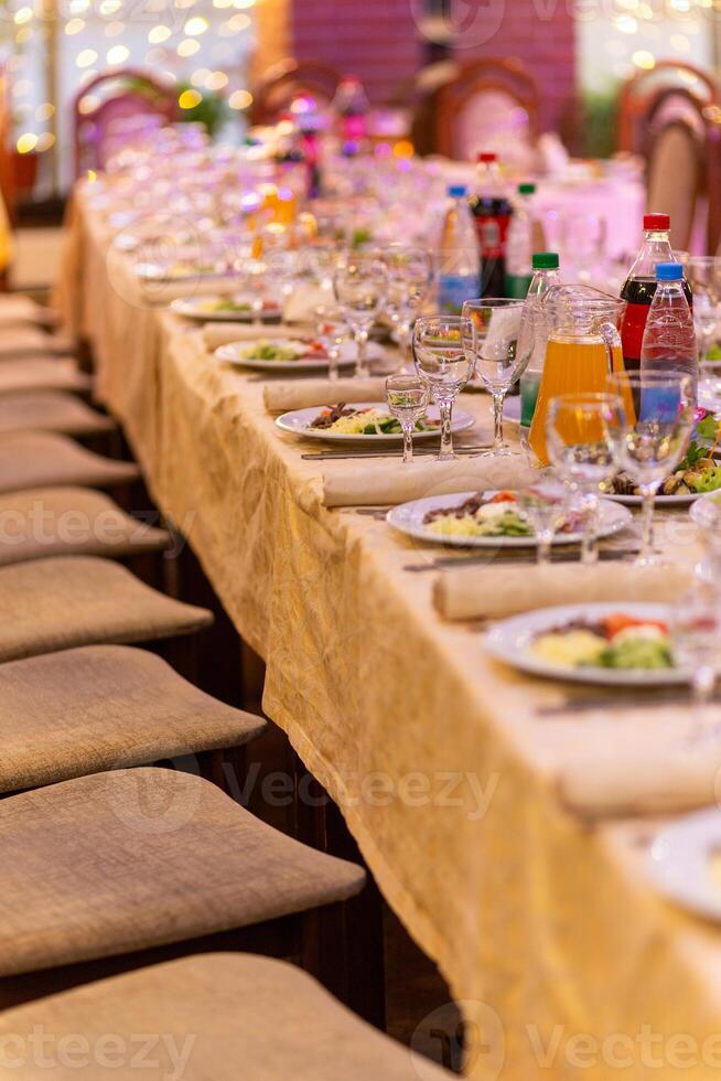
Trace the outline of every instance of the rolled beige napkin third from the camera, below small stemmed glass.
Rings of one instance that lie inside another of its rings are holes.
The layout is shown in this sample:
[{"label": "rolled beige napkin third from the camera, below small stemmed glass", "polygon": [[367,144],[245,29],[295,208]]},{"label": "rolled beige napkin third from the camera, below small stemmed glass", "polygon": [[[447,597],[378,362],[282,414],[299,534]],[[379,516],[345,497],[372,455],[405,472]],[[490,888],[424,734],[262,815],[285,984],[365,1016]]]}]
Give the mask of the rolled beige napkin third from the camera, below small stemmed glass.
[{"label": "rolled beige napkin third from the camera, below small stemmed glass", "polygon": [[[340,464],[340,463],[338,463]],[[325,506],[375,506],[407,503],[427,495],[520,488],[531,472],[520,456],[492,460],[460,458],[451,462],[400,459],[343,463],[323,477]]]}]

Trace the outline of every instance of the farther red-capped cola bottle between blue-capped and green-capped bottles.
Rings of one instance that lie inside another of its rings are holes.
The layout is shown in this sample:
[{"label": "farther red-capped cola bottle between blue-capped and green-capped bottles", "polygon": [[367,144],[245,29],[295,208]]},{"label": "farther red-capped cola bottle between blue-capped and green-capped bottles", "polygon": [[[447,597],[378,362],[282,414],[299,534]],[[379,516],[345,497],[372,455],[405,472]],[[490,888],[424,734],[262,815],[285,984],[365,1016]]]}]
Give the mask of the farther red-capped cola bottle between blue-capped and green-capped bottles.
[{"label": "farther red-capped cola bottle between blue-capped and green-capped bottles", "polygon": [[481,247],[481,296],[506,296],[506,235],[513,206],[506,194],[498,156],[478,154],[476,194],[471,199]]}]

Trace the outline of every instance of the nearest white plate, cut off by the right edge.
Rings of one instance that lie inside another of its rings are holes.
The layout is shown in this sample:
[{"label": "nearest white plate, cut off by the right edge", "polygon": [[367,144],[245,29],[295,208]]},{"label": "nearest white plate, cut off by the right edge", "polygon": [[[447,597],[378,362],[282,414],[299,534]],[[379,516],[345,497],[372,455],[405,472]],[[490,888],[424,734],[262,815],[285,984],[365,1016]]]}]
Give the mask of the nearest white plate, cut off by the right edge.
[{"label": "nearest white plate, cut off by the right edge", "polygon": [[721,920],[721,882],[711,877],[711,854],[721,852],[721,812],[685,815],[656,834],[649,871],[666,897],[712,920]]}]

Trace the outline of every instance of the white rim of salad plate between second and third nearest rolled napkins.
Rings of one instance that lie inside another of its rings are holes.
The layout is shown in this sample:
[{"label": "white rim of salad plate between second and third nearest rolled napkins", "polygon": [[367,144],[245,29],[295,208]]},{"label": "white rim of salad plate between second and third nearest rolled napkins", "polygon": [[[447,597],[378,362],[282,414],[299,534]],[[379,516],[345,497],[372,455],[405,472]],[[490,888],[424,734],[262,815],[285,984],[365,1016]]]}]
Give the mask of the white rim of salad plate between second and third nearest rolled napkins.
[{"label": "white rim of salad plate between second and third nearest rolled napkins", "polygon": [[[446,544],[456,548],[528,548],[536,546],[536,537],[459,537],[443,536],[435,533],[423,518],[429,511],[440,507],[459,506],[464,500],[471,499],[477,492],[459,492],[453,495],[431,495],[424,500],[413,500],[412,503],[401,503],[388,512],[387,521],[401,533],[417,540],[432,540],[434,544]],[[617,533],[633,521],[631,511],[609,500],[600,501],[600,537]],[[553,538],[553,544],[578,544],[580,534],[566,533]]]}]

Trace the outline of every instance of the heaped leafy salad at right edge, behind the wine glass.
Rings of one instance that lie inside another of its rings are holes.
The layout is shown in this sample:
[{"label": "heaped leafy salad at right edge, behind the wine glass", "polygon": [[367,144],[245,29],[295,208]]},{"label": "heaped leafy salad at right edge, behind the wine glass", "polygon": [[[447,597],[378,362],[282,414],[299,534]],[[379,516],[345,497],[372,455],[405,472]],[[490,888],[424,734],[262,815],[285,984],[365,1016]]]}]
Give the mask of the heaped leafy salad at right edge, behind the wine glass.
[{"label": "heaped leafy salad at right edge, behind the wine glass", "polygon": [[[678,469],[658,490],[657,506],[688,506],[699,496],[721,489],[721,462],[715,458],[721,449],[721,424],[704,409],[698,411],[693,438]],[[623,473],[615,478],[607,495],[627,506],[643,502],[634,482]]]}]

